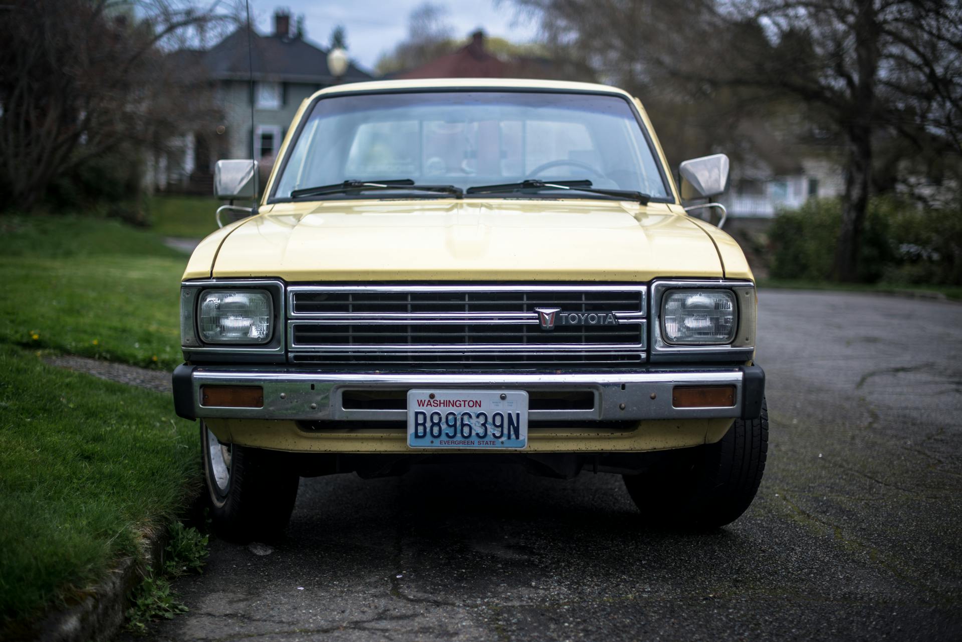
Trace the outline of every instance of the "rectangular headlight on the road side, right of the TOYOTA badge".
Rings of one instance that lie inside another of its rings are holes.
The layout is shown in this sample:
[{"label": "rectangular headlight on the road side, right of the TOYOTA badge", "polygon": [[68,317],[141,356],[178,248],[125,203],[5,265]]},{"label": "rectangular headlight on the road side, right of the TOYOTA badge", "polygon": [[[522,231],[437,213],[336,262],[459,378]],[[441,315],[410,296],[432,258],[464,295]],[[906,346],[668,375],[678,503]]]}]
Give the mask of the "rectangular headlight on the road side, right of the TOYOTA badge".
[{"label": "rectangular headlight on the road side, right of the TOYOTA badge", "polygon": [[726,345],[735,338],[738,309],[731,290],[671,289],[662,298],[664,338],[675,345]]}]

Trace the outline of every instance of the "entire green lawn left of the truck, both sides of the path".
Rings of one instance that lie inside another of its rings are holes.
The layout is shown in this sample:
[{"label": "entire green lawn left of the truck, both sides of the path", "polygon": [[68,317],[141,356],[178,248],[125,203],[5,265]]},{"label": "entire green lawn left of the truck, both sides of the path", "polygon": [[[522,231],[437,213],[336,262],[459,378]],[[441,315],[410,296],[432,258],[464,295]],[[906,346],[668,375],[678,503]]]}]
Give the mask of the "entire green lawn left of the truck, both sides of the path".
[{"label": "entire green lawn left of the truck, both sides of the path", "polygon": [[6,215],[0,237],[0,623],[13,626],[165,528],[200,469],[196,424],[168,395],[39,358],[172,368],[187,256],[92,216]]}]

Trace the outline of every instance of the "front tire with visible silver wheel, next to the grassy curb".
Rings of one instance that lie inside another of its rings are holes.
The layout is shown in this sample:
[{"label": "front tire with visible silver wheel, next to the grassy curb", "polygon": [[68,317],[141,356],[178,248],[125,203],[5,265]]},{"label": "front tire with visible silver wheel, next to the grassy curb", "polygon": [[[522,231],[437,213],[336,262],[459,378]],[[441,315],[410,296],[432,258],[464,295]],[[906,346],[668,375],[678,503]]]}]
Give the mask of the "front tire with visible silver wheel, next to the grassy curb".
[{"label": "front tire with visible silver wheel, next to the grassy curb", "polygon": [[291,519],[300,478],[278,454],[222,444],[200,422],[207,505],[215,531],[238,542],[278,539]]}]

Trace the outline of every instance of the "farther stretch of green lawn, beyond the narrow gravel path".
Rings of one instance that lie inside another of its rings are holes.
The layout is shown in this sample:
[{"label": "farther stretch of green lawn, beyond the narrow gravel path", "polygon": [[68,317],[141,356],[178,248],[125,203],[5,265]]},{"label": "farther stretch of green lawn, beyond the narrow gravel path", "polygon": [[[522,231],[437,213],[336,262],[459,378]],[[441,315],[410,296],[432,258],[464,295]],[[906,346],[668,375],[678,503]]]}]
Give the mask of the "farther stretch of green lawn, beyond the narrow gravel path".
[{"label": "farther stretch of green lawn, beyond the narrow gravel path", "polygon": [[4,217],[0,341],[170,369],[181,362],[188,257],[158,235],[89,217]]}]

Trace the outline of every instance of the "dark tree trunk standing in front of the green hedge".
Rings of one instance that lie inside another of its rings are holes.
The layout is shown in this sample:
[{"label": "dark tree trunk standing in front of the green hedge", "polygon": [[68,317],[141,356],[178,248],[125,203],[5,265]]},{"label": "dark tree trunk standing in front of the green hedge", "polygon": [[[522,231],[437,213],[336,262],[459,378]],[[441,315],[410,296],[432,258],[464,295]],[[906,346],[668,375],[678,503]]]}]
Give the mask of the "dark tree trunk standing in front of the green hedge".
[{"label": "dark tree trunk standing in front of the green hedge", "polygon": [[848,159],[845,195],[842,202],[842,228],[835,247],[832,276],[837,281],[858,281],[858,254],[862,228],[869,210],[869,187],[872,185],[872,130],[852,127],[848,131]]}]

